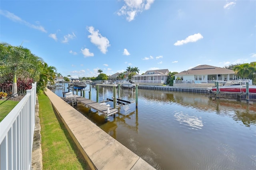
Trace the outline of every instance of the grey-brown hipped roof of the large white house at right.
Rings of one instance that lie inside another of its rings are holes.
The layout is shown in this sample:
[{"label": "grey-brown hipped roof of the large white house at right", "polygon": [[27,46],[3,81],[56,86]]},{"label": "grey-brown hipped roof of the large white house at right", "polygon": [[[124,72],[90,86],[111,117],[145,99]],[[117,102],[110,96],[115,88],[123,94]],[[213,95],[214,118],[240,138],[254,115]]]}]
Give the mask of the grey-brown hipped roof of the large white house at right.
[{"label": "grey-brown hipped roof of the large white house at right", "polygon": [[210,74],[235,74],[232,69],[215,67],[211,65],[198,65],[187,71],[182,71],[175,75],[210,75]]}]

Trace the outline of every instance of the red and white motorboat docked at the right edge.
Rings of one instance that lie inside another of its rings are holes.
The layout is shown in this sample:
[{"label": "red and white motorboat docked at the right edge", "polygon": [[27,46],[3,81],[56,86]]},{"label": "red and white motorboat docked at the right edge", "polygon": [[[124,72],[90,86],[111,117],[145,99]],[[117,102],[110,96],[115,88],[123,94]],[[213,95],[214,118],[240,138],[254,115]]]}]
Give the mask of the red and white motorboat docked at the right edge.
[{"label": "red and white motorboat docked at the right edge", "polygon": [[[246,85],[242,85],[238,83],[238,81],[232,81],[230,83],[223,83],[218,88],[219,92],[227,92],[227,93],[246,93]],[[209,88],[209,92],[216,92],[217,87],[214,86]],[[256,93],[256,85],[249,85],[249,93]]]}]

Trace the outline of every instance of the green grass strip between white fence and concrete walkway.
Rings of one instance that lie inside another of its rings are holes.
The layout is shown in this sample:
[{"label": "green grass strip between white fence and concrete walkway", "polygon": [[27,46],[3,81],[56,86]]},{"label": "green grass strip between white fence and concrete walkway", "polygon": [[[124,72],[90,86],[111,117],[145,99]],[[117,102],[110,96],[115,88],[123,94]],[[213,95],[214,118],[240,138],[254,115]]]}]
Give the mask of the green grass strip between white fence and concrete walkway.
[{"label": "green grass strip between white fence and concrete walkway", "polygon": [[43,169],[90,169],[64,124],[54,113],[50,99],[38,95]]}]

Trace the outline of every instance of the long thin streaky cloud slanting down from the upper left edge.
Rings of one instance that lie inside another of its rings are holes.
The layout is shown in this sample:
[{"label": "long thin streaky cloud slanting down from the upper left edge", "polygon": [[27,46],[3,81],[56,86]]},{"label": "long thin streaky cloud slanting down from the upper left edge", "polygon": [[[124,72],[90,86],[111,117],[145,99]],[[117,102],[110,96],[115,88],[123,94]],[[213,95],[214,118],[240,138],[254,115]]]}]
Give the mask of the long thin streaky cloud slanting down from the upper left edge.
[{"label": "long thin streaky cloud slanting down from the upper left edge", "polygon": [[[34,24],[30,24],[29,22],[26,22],[25,20],[22,20],[20,17],[16,16],[15,14],[6,11],[6,10],[0,10],[0,14],[5,16],[6,18],[9,18],[13,22],[19,22],[20,24],[24,24],[30,28],[42,31],[42,32],[47,32],[43,26],[36,26]],[[38,23],[38,22],[37,22]]]}]

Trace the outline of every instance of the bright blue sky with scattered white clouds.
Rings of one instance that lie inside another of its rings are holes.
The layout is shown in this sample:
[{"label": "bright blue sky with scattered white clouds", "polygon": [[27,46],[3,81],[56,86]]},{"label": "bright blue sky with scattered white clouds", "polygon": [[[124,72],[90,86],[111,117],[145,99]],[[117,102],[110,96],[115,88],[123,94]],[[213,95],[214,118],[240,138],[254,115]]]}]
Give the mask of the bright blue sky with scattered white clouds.
[{"label": "bright blue sky with scattered white clouds", "polygon": [[0,1],[0,41],[63,76],[256,61],[255,0]]}]

